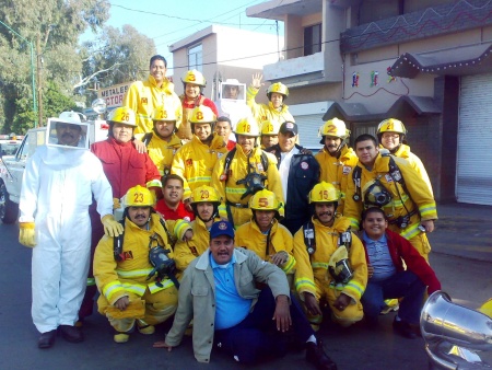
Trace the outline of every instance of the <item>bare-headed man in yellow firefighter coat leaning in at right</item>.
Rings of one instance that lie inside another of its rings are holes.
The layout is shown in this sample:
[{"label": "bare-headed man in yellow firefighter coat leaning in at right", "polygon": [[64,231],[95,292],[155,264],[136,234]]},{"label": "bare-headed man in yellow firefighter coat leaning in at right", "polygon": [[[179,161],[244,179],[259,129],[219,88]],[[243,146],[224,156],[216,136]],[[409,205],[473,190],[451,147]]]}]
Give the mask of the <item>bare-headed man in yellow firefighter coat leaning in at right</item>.
[{"label": "bare-headed man in yellow firefighter coat leaning in at right", "polygon": [[382,208],[388,219],[388,229],[407,239],[429,262],[431,245],[425,233],[434,230],[437,210],[422,176],[407,160],[382,154],[371,135],[356,138],[355,152],[359,164],[353,171],[356,171],[355,183],[360,186],[350,183],[344,216],[359,229],[364,207]]}]

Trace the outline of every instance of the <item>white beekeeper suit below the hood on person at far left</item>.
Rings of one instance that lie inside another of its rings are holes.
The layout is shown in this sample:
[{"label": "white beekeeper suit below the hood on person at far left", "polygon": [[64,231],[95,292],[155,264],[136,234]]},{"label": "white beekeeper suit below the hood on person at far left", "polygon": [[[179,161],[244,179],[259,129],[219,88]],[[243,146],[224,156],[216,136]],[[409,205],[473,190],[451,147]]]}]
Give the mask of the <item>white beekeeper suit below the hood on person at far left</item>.
[{"label": "white beekeeper suit below the hood on person at far left", "polygon": [[19,221],[21,229],[23,222],[35,226],[32,315],[40,333],[78,320],[89,270],[92,194],[98,213],[112,215],[112,187],[89,150],[43,146],[27,161]]}]

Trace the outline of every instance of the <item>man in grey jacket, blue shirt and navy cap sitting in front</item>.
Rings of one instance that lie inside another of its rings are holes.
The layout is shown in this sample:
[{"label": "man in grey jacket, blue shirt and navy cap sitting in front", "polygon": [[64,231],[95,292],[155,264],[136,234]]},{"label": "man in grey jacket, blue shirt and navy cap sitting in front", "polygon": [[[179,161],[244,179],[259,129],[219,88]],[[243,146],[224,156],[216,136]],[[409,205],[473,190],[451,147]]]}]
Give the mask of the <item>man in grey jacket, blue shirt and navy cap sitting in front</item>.
[{"label": "man in grey jacket, blue shirt and navy cap sitting in front", "polygon": [[[256,282],[268,286],[258,290]],[[290,296],[285,274],[254,252],[235,248],[227,221],[212,224],[209,248],[185,270],[173,327],[154,347],[171,351],[178,346],[191,320],[199,362],[210,361],[212,346],[242,363],[283,356],[283,334],[292,326],[298,342],[306,343],[307,361],[318,369],[337,369]]]}]

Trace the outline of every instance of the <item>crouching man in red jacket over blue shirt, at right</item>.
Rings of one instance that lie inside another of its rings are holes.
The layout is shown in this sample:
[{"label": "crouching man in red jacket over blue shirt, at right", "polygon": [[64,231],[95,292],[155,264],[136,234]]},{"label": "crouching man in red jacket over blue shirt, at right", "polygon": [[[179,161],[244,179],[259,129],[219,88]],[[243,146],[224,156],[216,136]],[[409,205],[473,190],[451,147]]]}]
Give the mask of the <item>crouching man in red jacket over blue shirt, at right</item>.
[{"label": "crouching man in red jacket over blue shirt, at right", "polygon": [[413,339],[425,287],[431,294],[441,289],[441,282],[409,241],[387,230],[388,221],[380,208],[366,209],[362,215],[362,227],[368,273],[367,287],[361,299],[365,320],[375,326],[385,307],[384,300],[402,297],[393,327],[401,336]]}]

